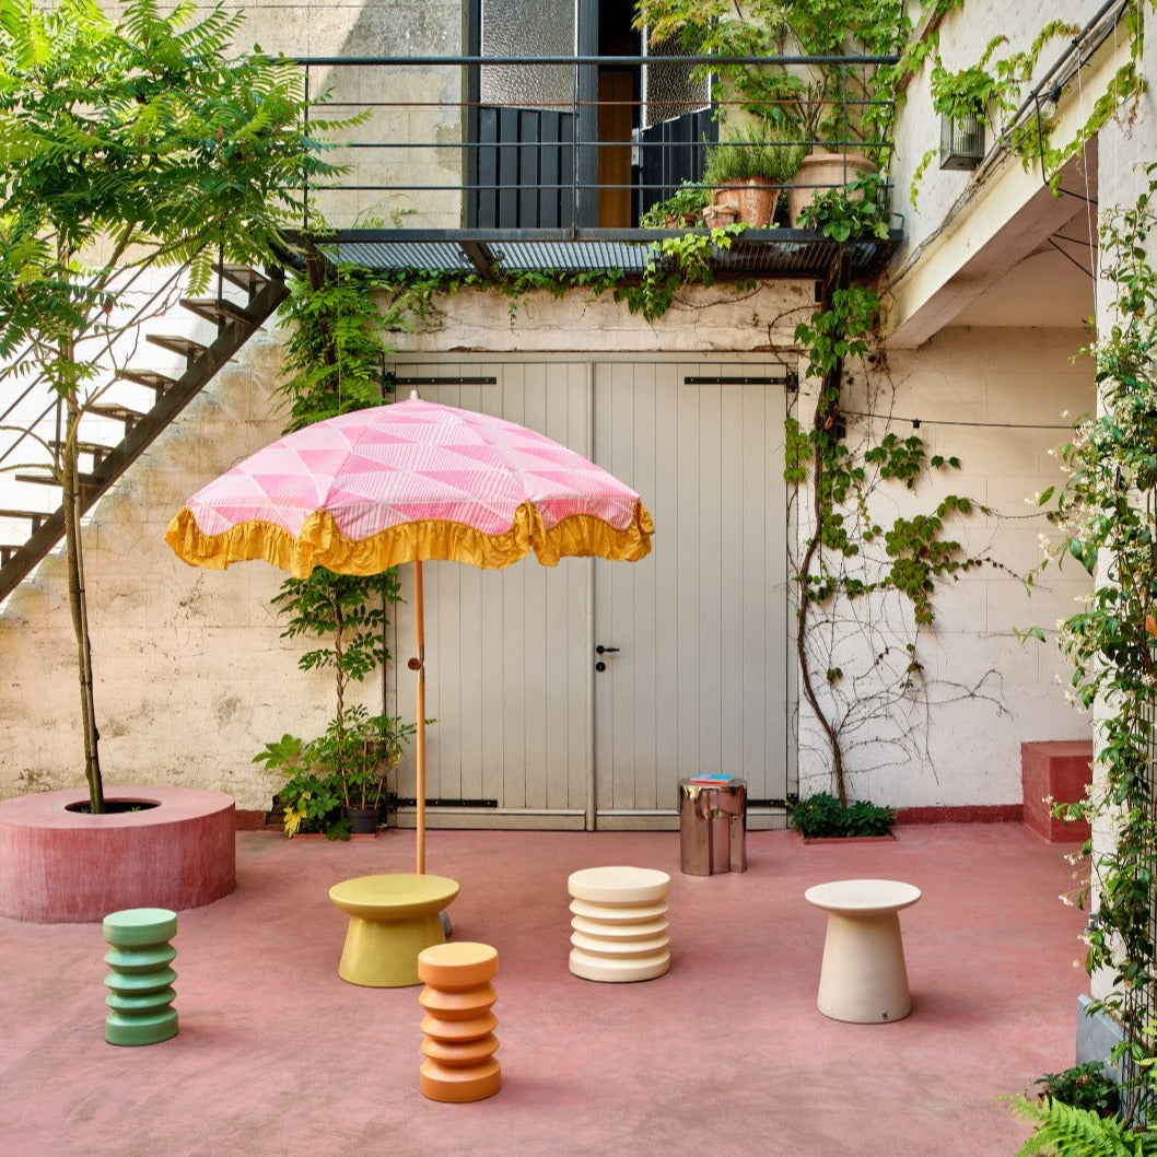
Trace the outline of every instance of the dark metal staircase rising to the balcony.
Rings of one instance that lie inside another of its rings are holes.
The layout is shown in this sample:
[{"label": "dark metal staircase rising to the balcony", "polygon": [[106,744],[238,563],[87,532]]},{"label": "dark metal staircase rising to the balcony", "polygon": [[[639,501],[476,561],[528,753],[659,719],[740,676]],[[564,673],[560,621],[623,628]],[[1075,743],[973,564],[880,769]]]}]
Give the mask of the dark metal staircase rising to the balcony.
[{"label": "dark metal staircase rising to the balcony", "polygon": [[[183,363],[183,370],[125,366],[112,373],[112,382],[93,391],[91,400],[82,407],[81,440],[78,442],[82,515],[212,381],[288,294],[281,271],[260,273],[238,265],[219,266],[215,289],[213,297],[179,300],[179,304],[202,323],[202,329],[206,327],[204,323],[208,323],[212,337],[200,340],[172,333],[145,334],[147,342],[174,355],[178,366]],[[140,310],[141,317],[156,316],[155,309],[149,311],[155,300],[156,295]],[[132,324],[128,329],[133,329]],[[139,333],[134,333],[133,340],[138,338]],[[123,398],[117,392],[119,383],[128,383],[135,397]],[[29,411],[30,403],[37,396],[43,399],[47,389],[42,379],[35,378],[0,413],[0,430],[5,435],[0,442],[0,471],[5,471],[0,473],[5,487],[0,500],[0,602],[64,537],[60,484],[54,469],[60,458],[61,403],[53,396],[43,408]],[[116,439],[118,433],[119,440]],[[53,501],[56,509],[52,509]]]}]

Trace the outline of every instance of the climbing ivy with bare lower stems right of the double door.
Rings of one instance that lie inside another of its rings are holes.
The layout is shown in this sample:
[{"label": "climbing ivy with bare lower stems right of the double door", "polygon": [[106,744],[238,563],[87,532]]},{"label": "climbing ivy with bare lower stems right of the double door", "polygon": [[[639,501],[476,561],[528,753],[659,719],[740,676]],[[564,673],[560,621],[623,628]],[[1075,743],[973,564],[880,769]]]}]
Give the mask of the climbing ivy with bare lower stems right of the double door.
[{"label": "climbing ivy with bare lower stems right of the double door", "polygon": [[[887,363],[875,341],[878,310],[875,290],[845,286],[796,326],[819,395],[809,426],[788,419],[784,456],[784,478],[810,502],[794,566],[801,690],[827,744],[832,787],[845,804],[848,744],[882,749],[885,761],[900,752],[921,754],[908,713],[916,703],[929,706],[919,643],[921,631],[934,624],[937,587],[997,565],[951,537],[955,519],[992,513],[966,496],[946,494],[921,513],[879,515],[875,500],[883,491],[914,494],[931,476],[959,470],[960,462],[930,455],[918,434],[900,437],[892,428]],[[855,441],[848,436],[855,418],[843,412],[853,361],[867,367],[874,383],[865,390],[869,420],[858,423]],[[897,599],[907,616],[889,613],[886,604]],[[846,666],[849,661],[855,671]],[[987,678],[949,694],[980,698]]]}]

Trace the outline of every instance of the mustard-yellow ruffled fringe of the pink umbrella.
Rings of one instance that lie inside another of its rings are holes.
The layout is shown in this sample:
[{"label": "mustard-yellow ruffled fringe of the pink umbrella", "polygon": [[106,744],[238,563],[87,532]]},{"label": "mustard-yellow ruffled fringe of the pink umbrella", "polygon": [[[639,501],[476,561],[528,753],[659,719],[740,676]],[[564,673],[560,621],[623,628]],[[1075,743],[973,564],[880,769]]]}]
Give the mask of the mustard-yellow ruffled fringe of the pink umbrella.
[{"label": "mustard-yellow ruffled fringe of the pink umbrella", "polygon": [[487,535],[460,522],[430,519],[401,523],[363,539],[346,538],[327,510],[311,514],[297,538],[270,522],[243,522],[220,535],[206,535],[192,510],[183,507],[169,523],[164,540],[191,566],[223,570],[234,562],[265,559],[295,578],[304,578],[318,566],[337,574],[371,575],[423,559],[469,562],[489,570],[517,562],[530,550],[548,567],[561,558],[588,555],[636,562],[649,553],[654,532],[655,524],[642,502],[635,504],[622,530],[589,514],[570,515],[546,530],[538,510],[524,502],[510,529],[501,535]]}]

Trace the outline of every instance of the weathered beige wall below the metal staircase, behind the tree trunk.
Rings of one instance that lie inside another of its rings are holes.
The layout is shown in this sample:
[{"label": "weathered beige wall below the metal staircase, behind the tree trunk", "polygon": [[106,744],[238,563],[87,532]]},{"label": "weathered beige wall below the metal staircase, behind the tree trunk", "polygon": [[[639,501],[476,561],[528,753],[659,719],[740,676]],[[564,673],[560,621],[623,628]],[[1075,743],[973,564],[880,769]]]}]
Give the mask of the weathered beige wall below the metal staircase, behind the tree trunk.
[{"label": "weathered beige wall below the metal staircase, behind the tree trunk", "polygon": [[[250,762],[286,731],[314,735],[330,680],[296,669],[261,562],[198,570],[164,543],[184,500],[272,441],[280,345],[251,339],[96,507],[84,530],[101,759],[109,784],[228,791],[267,808],[278,776]],[[50,555],[0,614],[0,796],[83,782],[64,559]]]}]

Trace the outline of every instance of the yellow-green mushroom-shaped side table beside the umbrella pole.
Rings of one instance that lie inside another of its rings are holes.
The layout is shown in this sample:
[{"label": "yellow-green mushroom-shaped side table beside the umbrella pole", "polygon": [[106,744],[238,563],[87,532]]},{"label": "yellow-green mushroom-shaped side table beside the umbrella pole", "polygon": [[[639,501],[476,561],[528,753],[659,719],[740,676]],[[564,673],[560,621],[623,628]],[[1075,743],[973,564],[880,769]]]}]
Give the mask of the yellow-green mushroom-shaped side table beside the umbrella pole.
[{"label": "yellow-green mushroom-shaped side table beside the umbrella pole", "polygon": [[456,879],[412,872],[334,884],[330,899],[349,916],[338,975],[369,988],[421,983],[418,953],[445,943],[439,913],[457,894]]}]

